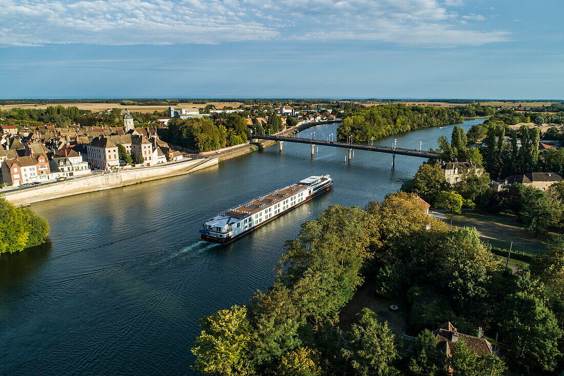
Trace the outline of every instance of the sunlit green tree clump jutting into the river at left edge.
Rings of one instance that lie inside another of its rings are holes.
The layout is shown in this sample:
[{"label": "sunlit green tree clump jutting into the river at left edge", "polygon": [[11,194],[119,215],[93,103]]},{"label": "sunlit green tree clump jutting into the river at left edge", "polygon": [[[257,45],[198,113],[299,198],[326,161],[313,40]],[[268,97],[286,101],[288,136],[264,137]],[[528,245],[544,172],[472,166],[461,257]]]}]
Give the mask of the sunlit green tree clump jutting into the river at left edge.
[{"label": "sunlit green tree clump jutting into the river at left edge", "polygon": [[28,207],[17,208],[0,197],[0,253],[14,253],[45,243],[49,223]]}]

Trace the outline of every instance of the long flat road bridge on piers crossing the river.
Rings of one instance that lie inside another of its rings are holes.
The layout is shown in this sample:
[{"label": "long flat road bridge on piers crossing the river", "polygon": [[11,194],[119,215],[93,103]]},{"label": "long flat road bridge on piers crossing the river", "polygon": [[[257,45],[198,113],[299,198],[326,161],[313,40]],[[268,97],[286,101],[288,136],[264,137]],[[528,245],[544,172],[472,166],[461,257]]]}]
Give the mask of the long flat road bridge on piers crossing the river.
[{"label": "long flat road bridge on piers crossing the river", "polygon": [[417,158],[438,158],[438,154],[432,151],[422,151],[417,149],[406,149],[402,147],[387,147],[387,146],[374,146],[374,145],[362,145],[358,143],[348,143],[348,142],[338,142],[338,141],[325,141],[316,140],[315,138],[297,138],[297,137],[285,137],[280,135],[252,135],[252,140],[265,139],[276,141],[280,143],[280,151],[284,148],[284,142],[296,142],[296,143],[307,143],[311,145],[311,155],[315,154],[315,145],[321,146],[332,146],[346,148],[349,151],[349,161],[351,160],[352,150],[366,150],[366,151],[376,151],[380,153],[387,153],[392,155],[391,167],[395,167],[395,156],[396,155],[407,155]]}]

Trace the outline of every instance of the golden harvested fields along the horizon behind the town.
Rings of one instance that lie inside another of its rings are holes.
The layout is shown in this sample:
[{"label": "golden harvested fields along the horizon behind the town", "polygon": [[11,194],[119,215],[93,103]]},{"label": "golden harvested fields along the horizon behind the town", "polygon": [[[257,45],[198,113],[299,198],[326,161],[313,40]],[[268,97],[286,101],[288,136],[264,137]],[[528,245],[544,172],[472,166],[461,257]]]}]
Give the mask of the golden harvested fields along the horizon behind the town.
[{"label": "golden harvested fields along the horizon behind the town", "polygon": [[[94,112],[104,111],[108,108],[120,108],[125,110],[129,108],[133,112],[153,112],[153,111],[165,111],[168,110],[169,106],[121,106],[117,103],[56,103],[56,104],[6,104],[5,106],[0,106],[0,110],[10,110],[10,108],[20,107],[20,108],[47,108],[47,106],[58,106],[58,105],[69,107],[76,106],[80,110],[91,110]],[[217,108],[223,108],[225,106],[239,107],[241,102],[208,102],[205,104],[192,104],[192,103],[179,103],[175,108],[200,108],[206,107],[207,104],[214,104]]]}]

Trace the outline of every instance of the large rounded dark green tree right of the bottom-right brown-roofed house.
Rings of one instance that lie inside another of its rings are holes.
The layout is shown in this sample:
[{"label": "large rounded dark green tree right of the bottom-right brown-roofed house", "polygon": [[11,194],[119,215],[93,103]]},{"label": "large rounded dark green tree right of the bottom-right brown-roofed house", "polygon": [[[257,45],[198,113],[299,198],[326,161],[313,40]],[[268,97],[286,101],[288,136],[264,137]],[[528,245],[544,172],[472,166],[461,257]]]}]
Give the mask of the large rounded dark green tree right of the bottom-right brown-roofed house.
[{"label": "large rounded dark green tree right of the bottom-right brown-roofed house", "polygon": [[501,340],[510,346],[509,356],[516,365],[527,373],[554,369],[562,330],[543,301],[517,292],[501,302],[499,317]]}]

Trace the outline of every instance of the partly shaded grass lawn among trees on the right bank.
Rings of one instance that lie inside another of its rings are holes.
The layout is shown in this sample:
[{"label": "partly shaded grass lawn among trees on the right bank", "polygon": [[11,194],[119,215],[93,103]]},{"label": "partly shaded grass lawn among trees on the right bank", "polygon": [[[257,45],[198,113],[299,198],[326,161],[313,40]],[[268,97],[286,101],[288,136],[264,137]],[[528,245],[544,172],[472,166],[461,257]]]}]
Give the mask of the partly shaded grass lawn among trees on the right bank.
[{"label": "partly shaded grass lawn among trees on the right bank", "polygon": [[535,238],[526,233],[517,217],[512,215],[493,215],[482,213],[463,213],[462,215],[447,215],[447,223],[452,220],[453,226],[475,227],[483,241],[494,247],[509,249],[513,242],[514,251],[541,253],[547,250],[548,237]]}]

